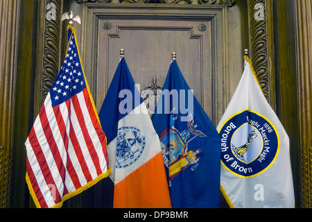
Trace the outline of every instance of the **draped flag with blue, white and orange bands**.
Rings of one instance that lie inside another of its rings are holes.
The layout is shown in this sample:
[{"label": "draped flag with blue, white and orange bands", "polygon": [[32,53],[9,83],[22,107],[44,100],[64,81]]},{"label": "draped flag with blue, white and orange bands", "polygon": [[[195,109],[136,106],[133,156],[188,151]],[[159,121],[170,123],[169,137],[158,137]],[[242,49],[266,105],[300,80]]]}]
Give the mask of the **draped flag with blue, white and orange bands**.
[{"label": "draped flag with blue, white and orange bands", "polygon": [[124,57],[98,115],[107,136],[113,206],[171,207],[159,138]]}]

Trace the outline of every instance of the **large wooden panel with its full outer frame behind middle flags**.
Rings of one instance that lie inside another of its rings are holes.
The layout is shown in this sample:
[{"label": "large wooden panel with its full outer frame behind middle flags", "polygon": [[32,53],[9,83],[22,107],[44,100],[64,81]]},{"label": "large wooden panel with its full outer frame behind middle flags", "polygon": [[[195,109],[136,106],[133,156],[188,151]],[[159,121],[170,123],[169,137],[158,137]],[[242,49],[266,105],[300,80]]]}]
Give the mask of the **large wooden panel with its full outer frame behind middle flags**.
[{"label": "large wooden panel with its full outer frame behind middle flags", "polygon": [[[101,108],[107,87],[119,62],[119,49],[141,89],[155,76],[164,83],[171,61],[177,62],[184,78],[211,120],[216,123],[225,103],[225,6],[147,6],[147,4],[87,4],[85,17],[85,73],[96,106]],[[99,87],[101,86],[101,88]],[[218,96],[217,96],[218,95]],[[218,101],[220,98],[220,101]],[[218,104],[218,105],[212,105]]]}]

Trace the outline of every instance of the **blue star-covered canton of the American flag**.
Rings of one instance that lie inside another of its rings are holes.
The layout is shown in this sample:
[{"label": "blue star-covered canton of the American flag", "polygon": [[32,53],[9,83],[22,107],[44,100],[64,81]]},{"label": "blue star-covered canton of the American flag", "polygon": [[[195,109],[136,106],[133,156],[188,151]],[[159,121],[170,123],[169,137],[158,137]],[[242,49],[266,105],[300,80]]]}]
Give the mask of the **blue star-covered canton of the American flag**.
[{"label": "blue star-covered canton of the American flag", "polygon": [[50,90],[52,106],[67,101],[73,94],[78,94],[86,87],[75,43],[75,38],[72,36],[60,73]]}]

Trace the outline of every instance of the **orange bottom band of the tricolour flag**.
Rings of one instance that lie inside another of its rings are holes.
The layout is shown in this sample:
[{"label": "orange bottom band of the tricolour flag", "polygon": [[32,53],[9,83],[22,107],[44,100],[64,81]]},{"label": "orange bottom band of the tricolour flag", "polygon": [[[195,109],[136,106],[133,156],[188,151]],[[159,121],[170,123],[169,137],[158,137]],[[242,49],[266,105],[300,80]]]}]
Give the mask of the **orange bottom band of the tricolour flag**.
[{"label": "orange bottom band of the tricolour flag", "polygon": [[162,153],[155,155],[115,185],[114,207],[171,207]]}]

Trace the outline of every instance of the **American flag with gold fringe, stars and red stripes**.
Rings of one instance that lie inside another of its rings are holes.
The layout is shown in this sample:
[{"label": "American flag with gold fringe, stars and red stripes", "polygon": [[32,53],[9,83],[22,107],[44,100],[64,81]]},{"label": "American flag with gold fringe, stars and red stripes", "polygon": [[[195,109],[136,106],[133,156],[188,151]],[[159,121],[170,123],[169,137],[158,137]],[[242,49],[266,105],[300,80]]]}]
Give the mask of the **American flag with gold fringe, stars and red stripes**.
[{"label": "American flag with gold fringe, stars and red stripes", "polygon": [[110,173],[72,26],[69,32],[66,58],[25,143],[26,182],[37,207],[61,207]]}]

